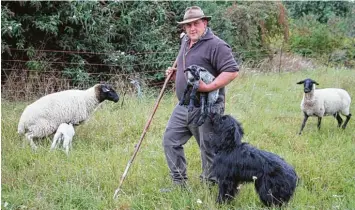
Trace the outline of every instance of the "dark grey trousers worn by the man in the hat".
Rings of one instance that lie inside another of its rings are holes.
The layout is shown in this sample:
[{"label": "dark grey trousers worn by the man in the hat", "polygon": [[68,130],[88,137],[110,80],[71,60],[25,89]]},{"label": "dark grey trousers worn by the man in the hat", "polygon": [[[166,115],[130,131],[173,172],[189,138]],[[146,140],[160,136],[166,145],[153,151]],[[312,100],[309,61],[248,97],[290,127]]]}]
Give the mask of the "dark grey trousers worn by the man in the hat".
[{"label": "dark grey trousers worn by the man in the hat", "polygon": [[187,179],[183,146],[192,136],[195,137],[201,151],[202,174],[200,178],[206,181],[216,181],[210,172],[214,156],[209,143],[212,124],[208,118],[202,126],[198,127],[195,123],[199,113],[200,108],[194,108],[192,112],[188,112],[186,106],[177,105],[166,126],[163,146],[170,174],[175,183],[181,183]]}]

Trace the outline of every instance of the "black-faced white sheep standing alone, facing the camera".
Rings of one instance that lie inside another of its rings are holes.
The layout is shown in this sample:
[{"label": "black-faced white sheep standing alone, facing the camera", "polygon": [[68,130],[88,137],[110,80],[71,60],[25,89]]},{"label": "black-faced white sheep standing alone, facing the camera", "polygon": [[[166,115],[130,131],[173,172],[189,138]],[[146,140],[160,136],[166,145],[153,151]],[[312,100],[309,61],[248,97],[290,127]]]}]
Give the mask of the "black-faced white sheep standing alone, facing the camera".
[{"label": "black-faced white sheep standing alone, facing the camera", "polygon": [[299,135],[301,135],[304,126],[306,125],[309,116],[318,117],[318,130],[320,129],[322,117],[326,115],[333,115],[338,121],[338,127],[343,123],[342,115],[346,116],[346,120],[342,126],[346,128],[351,114],[350,103],[351,98],[348,92],[339,88],[325,88],[315,89],[318,82],[312,79],[305,79],[297,82],[297,84],[304,84],[304,95],[301,102],[301,109],[304,113],[304,119]]}]

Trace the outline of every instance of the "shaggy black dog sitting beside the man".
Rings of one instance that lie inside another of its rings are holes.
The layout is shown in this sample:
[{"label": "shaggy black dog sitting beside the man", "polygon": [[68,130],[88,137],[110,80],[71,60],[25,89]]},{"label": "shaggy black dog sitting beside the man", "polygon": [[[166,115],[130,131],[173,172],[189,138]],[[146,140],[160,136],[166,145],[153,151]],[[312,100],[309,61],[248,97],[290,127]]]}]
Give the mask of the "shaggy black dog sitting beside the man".
[{"label": "shaggy black dog sitting beside the man", "polygon": [[266,206],[287,203],[298,180],[295,170],[278,155],[242,143],[243,134],[241,124],[232,116],[214,117],[212,169],[218,180],[217,202],[232,200],[240,183],[254,182]]}]

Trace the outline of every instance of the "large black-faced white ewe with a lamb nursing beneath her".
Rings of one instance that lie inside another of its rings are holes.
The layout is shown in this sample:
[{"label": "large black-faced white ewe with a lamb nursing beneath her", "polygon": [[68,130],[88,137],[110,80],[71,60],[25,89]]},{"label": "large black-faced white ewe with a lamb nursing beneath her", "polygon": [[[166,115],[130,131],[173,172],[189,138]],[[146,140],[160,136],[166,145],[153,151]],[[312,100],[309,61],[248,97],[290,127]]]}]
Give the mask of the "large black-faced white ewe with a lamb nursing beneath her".
[{"label": "large black-faced white ewe with a lamb nursing beneath her", "polygon": [[106,84],[43,96],[25,108],[18,124],[18,133],[25,134],[32,149],[36,150],[34,138],[53,134],[62,123],[79,125],[105,100],[115,103],[119,100],[116,91]]}]

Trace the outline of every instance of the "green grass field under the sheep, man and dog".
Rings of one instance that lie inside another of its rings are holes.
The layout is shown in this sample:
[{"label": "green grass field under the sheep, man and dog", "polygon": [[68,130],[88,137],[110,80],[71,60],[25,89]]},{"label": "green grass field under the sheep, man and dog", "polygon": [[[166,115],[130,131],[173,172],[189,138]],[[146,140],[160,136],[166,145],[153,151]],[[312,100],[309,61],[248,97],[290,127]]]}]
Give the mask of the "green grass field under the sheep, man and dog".
[{"label": "green grass field under the sheep, man and dog", "polygon": [[[355,209],[355,117],[346,130],[333,117],[325,117],[321,130],[310,118],[297,135],[303,114],[303,86],[310,77],[319,88],[340,87],[353,97],[355,71],[318,69],[282,74],[244,73],[227,89],[226,113],[243,123],[244,141],[277,153],[301,177],[296,193],[284,209]],[[171,185],[162,148],[162,135],[177,103],[167,93],[117,200],[112,196],[153,109],[157,94],[137,100],[126,97],[123,106],[105,102],[76,129],[69,157],[49,152],[51,139],[29,144],[17,134],[17,123],[28,103],[2,100],[1,208],[2,209],[262,209],[252,184],[242,186],[230,204],[217,206],[217,187],[199,182],[201,162],[196,142],[185,145],[190,191]],[[344,118],[344,117],[343,117]],[[201,202],[197,202],[200,200]]]}]

